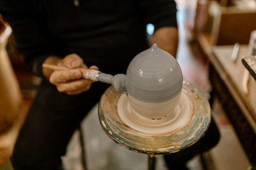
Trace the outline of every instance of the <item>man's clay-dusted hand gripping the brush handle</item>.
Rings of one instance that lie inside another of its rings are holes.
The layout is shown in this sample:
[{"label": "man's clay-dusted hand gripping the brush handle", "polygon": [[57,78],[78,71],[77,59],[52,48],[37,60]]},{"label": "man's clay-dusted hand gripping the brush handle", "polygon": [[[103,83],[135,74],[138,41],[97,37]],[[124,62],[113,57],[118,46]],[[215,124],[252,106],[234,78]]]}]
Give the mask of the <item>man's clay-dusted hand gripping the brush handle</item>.
[{"label": "man's clay-dusted hand gripping the brush handle", "polygon": [[[45,77],[49,77],[49,81],[56,85],[59,92],[65,92],[69,95],[81,94],[82,92],[89,90],[93,81],[82,78],[82,73],[76,68],[83,67],[88,69],[84,64],[83,59],[76,54],[67,55],[64,59],[60,58],[49,58],[46,59],[46,64],[57,64],[58,66],[65,66],[70,68],[69,70],[51,71],[46,68],[43,69]],[[89,69],[95,69],[95,66]]]}]

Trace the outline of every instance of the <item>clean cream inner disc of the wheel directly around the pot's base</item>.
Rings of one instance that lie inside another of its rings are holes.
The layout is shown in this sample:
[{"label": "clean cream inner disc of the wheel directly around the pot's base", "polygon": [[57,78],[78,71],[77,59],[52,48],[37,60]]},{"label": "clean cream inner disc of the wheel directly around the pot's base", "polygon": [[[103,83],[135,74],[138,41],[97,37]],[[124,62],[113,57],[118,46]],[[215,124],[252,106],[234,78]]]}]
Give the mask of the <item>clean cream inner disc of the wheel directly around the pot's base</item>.
[{"label": "clean cream inner disc of the wheel directly around the pot's base", "polygon": [[122,94],[117,103],[117,112],[121,120],[132,129],[148,134],[172,132],[183,127],[192,117],[193,103],[189,99],[188,90],[182,89],[179,103],[173,113],[161,119],[150,119],[139,115],[128,102],[127,94]]}]

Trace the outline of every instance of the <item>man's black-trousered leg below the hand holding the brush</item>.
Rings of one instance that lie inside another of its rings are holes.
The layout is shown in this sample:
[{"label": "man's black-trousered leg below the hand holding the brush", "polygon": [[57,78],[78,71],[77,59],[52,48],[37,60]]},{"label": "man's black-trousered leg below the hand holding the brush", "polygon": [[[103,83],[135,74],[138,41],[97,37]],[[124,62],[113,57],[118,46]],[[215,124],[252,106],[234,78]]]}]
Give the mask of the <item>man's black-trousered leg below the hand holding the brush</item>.
[{"label": "man's black-trousered leg below the hand holding the brush", "polygon": [[73,132],[107,87],[97,82],[83,94],[68,96],[42,82],[15,145],[15,169],[60,166],[60,156],[65,155]]}]

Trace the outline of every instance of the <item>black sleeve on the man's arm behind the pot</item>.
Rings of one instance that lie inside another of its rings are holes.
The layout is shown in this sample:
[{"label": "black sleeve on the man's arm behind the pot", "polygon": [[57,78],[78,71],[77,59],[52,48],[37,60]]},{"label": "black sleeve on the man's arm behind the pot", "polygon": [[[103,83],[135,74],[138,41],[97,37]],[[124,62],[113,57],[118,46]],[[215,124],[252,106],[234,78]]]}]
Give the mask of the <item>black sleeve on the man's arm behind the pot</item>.
[{"label": "black sleeve on the man's arm behind the pot", "polygon": [[160,27],[177,27],[176,3],[174,0],[134,0],[145,24]]}]

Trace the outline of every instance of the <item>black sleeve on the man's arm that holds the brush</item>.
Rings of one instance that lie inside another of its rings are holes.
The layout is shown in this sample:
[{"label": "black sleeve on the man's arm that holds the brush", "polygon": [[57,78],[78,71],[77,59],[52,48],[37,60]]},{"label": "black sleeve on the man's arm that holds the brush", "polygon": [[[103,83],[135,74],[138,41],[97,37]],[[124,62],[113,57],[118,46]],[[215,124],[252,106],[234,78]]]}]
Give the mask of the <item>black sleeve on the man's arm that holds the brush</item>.
[{"label": "black sleeve on the man's arm that holds the brush", "polygon": [[35,7],[22,0],[1,0],[0,14],[12,27],[17,47],[29,69],[43,77],[42,63],[50,55],[58,53],[54,52],[46,21]]}]

